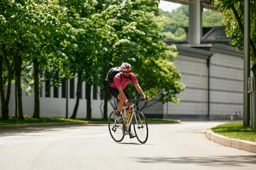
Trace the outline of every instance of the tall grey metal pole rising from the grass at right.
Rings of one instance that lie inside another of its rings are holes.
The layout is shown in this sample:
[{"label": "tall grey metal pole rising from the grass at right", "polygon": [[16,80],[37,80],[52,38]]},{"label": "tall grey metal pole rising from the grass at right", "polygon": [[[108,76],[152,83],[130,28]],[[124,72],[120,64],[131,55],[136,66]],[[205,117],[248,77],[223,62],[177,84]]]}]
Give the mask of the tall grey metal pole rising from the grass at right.
[{"label": "tall grey metal pole rising from the grass at right", "polygon": [[245,0],[244,28],[244,97],[243,126],[250,125],[250,95],[247,93],[247,79],[250,77],[250,1]]}]

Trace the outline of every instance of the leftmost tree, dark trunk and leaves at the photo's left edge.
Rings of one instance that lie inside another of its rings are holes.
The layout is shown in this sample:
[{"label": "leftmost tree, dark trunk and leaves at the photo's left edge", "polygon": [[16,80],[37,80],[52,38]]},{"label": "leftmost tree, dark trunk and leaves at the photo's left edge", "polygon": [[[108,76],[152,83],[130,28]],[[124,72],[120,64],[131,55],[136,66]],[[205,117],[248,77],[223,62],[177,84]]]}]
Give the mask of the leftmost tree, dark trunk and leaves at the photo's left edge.
[{"label": "leftmost tree, dark trunk and leaves at the photo's left edge", "polygon": [[[20,55],[21,35],[19,34],[20,5],[14,2],[4,0],[0,4],[0,96],[2,120],[8,120],[9,116],[9,99],[11,93],[11,83],[15,72],[15,62]],[[7,84],[6,97],[4,85]]]}]

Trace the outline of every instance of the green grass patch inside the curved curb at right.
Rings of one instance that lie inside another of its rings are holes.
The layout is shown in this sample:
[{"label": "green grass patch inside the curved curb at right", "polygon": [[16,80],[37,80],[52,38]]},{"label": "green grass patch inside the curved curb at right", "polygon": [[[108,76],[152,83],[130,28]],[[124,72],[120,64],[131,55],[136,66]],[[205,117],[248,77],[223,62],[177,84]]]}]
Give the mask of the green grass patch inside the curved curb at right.
[{"label": "green grass patch inside the curved curb at right", "polygon": [[256,142],[256,132],[253,132],[250,126],[243,127],[243,122],[226,123],[213,127],[211,130],[225,137]]}]

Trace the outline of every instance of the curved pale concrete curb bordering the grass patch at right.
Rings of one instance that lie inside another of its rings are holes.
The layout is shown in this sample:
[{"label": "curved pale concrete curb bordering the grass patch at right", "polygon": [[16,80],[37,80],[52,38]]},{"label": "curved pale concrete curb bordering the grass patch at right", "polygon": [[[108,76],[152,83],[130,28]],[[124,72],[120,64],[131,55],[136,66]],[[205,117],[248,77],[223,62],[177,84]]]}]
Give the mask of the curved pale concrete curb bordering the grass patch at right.
[{"label": "curved pale concrete curb bordering the grass patch at right", "polygon": [[217,144],[256,153],[256,142],[233,139],[222,135],[218,135],[214,133],[211,129],[207,129],[206,136],[208,139],[216,142]]}]

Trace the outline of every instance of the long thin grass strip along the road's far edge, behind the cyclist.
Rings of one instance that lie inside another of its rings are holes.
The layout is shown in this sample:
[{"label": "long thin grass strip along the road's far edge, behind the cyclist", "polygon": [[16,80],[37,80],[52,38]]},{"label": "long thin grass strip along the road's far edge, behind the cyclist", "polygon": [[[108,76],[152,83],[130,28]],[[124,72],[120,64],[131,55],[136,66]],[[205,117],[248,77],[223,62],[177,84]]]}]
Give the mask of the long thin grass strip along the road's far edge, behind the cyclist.
[{"label": "long thin grass strip along the road's far edge, behind the cyclist", "polygon": [[[178,122],[178,120],[174,119],[152,119],[148,118],[148,121],[166,121],[166,122]],[[9,117],[9,120],[2,120],[0,117],[0,125],[15,125],[15,124],[40,124],[40,123],[56,123],[56,122],[83,122],[83,121],[105,121],[108,119],[66,119],[66,118],[31,118],[24,117],[24,120],[18,119],[18,117]]]}]

